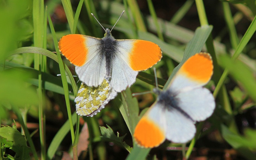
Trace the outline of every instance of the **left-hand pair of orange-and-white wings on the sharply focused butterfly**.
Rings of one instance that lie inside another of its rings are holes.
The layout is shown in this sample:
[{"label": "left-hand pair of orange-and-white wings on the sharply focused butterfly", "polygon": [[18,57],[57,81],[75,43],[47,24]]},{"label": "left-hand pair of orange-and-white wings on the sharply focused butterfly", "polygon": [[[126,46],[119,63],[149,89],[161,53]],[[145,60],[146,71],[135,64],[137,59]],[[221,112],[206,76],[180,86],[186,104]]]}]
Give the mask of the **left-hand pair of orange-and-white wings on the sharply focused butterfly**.
[{"label": "left-hand pair of orange-and-white wings on the sharply focused butterfly", "polygon": [[101,54],[102,39],[71,34],[59,41],[60,52],[76,66],[79,79],[88,86],[98,86],[106,75],[106,60]]}]

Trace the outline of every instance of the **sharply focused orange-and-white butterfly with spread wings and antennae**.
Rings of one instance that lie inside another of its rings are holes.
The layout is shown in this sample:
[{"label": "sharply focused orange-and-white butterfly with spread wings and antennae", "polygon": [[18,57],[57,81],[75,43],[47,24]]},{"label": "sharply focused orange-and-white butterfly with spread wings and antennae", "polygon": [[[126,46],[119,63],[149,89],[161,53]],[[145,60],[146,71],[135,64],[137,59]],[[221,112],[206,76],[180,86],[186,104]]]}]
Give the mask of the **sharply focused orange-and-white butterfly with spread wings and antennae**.
[{"label": "sharply focused orange-and-white butterfly with spread wings and antennae", "polygon": [[104,79],[109,79],[109,87],[121,92],[135,82],[138,71],[161,60],[162,51],[157,44],[145,40],[116,40],[111,30],[106,28],[103,38],[78,34],[63,36],[59,50],[76,66],[76,74],[84,84],[97,87]]}]

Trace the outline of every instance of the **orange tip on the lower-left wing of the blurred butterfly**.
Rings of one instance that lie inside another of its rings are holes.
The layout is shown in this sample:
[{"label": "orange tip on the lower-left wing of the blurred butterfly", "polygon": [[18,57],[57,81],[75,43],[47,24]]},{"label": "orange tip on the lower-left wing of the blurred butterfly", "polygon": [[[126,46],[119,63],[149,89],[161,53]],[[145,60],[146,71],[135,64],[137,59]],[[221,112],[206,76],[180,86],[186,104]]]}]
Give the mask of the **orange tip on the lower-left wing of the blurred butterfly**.
[{"label": "orange tip on the lower-left wing of the blurred butterfly", "polygon": [[135,127],[133,137],[139,146],[153,148],[165,140],[165,133],[157,124],[143,116]]}]

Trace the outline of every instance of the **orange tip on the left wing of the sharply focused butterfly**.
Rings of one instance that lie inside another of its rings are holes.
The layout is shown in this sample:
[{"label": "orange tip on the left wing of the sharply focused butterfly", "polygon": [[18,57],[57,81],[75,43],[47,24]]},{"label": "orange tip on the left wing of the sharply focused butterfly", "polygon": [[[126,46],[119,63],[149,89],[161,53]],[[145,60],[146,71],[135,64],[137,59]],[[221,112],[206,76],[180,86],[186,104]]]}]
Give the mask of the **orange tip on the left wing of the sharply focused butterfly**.
[{"label": "orange tip on the left wing of the sharply focused butterfly", "polygon": [[86,37],[78,34],[63,36],[59,41],[59,50],[74,65],[83,66],[88,49]]}]

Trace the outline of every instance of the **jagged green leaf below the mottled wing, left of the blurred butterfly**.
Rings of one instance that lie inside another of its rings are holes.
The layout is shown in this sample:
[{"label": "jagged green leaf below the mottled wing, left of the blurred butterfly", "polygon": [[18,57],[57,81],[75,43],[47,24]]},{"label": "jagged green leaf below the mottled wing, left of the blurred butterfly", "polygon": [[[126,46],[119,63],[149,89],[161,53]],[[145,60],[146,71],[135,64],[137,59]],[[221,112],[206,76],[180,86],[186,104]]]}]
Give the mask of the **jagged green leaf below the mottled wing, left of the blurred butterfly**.
[{"label": "jagged green leaf below the mottled wing, left of the blurred butterfly", "polygon": [[122,137],[119,137],[119,133],[117,132],[117,136],[116,136],[112,128],[108,126],[108,124],[107,124],[107,127],[108,128],[100,126],[100,132],[102,134],[100,138],[113,141],[117,145],[124,147],[128,152],[131,152],[132,148],[123,141],[126,134]]}]

